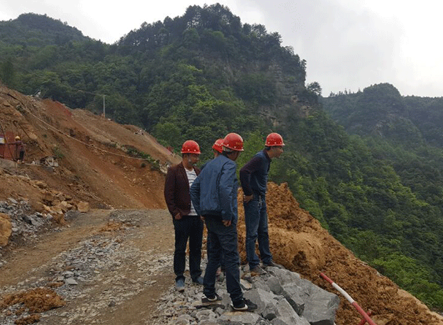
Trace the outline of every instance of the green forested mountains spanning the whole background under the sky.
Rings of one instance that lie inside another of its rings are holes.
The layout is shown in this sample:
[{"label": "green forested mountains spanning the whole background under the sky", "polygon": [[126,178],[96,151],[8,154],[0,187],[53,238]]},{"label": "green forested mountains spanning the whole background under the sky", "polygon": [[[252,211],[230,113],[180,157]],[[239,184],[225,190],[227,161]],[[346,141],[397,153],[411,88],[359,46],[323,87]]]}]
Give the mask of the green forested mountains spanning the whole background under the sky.
[{"label": "green forested mountains spanning the whole background under the sky", "polygon": [[174,148],[195,139],[202,161],[227,132],[246,140],[239,165],[280,132],[287,146],[271,180],[287,182],[360,258],[443,309],[439,98],[404,98],[390,85],[320,98],[278,33],[219,4],[145,23],[116,44],[21,15],[0,22],[0,68],[10,87],[69,107],[100,113],[105,96],[107,117]]}]

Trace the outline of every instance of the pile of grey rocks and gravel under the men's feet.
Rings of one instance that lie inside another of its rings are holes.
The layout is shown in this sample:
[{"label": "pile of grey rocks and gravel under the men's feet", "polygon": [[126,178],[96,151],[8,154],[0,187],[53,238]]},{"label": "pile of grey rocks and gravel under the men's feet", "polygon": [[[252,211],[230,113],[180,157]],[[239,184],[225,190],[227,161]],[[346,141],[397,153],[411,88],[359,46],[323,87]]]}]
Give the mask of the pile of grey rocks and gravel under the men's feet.
[{"label": "pile of grey rocks and gravel under the men's feet", "polygon": [[217,325],[333,325],[338,296],[301,279],[296,272],[268,267],[266,274],[251,277],[242,267],[244,297],[257,304],[253,313],[235,312],[230,306],[226,281],[217,281],[217,294],[223,300],[202,306],[201,286],[190,285],[183,294],[169,290],[161,297],[152,324]]}]

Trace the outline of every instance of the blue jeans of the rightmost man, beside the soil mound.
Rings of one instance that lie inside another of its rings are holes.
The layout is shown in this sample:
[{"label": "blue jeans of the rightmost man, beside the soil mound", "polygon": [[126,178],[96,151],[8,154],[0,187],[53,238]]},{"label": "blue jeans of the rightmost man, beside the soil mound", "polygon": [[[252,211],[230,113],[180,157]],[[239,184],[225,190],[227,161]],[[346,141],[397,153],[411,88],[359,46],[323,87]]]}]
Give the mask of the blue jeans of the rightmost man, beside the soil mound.
[{"label": "blue jeans of the rightmost man, beside the soil mound", "polygon": [[246,225],[246,258],[249,267],[260,264],[260,259],[255,253],[255,241],[258,240],[258,250],[263,263],[272,261],[269,249],[268,214],[266,213],[266,198],[256,195],[248,203],[244,203],[244,223]]}]

